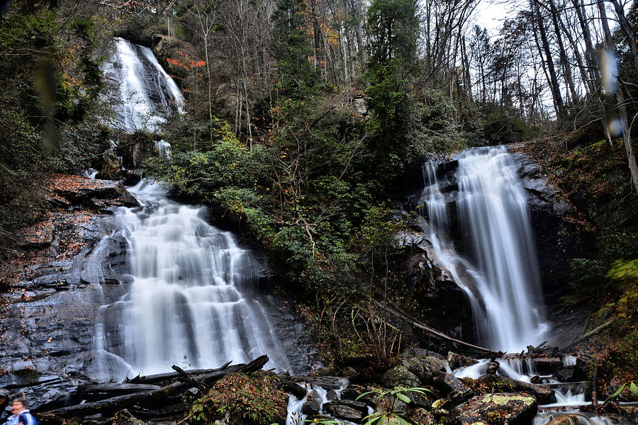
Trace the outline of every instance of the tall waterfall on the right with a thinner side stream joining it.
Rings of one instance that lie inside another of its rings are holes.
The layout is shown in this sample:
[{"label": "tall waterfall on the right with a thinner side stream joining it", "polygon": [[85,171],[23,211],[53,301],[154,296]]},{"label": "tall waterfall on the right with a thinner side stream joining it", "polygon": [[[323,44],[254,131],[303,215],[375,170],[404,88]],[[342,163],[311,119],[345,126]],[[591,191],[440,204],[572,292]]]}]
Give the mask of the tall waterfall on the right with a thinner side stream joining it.
[{"label": "tall waterfall on the right with a thinner side stream joining it", "polygon": [[450,235],[450,196],[442,193],[437,162],[423,167],[421,214],[435,260],[468,295],[483,344],[521,351],[547,334],[530,212],[505,147],[458,155],[456,208],[466,255]]}]

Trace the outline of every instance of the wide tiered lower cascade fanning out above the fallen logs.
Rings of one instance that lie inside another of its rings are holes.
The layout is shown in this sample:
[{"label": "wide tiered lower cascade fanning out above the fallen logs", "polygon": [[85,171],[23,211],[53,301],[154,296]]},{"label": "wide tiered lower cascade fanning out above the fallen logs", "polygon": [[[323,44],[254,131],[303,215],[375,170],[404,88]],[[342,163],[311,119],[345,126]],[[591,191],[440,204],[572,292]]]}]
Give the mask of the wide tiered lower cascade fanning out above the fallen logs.
[{"label": "wide tiered lower cascade fanning out above the fallen logs", "polygon": [[202,208],[168,200],[157,185],[131,191],[145,207],[121,208],[115,218],[128,241],[133,282],[99,313],[97,378],[166,372],[174,364],[213,368],[262,354],[267,368],[290,370],[253,297],[257,263],[250,252],[203,220]]}]

